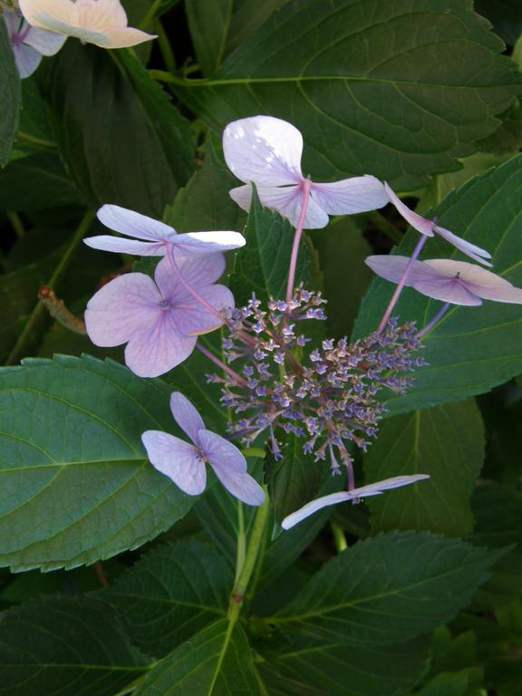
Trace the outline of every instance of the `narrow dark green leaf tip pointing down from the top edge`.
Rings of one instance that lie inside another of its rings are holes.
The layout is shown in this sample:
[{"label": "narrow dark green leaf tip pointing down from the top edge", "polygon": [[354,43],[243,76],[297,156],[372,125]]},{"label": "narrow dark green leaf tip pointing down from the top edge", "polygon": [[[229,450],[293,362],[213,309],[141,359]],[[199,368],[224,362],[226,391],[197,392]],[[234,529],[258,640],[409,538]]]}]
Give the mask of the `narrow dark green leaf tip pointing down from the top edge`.
[{"label": "narrow dark green leaf tip pointing down from the top edge", "polygon": [[204,75],[216,72],[225,51],[232,0],[187,0],[185,11],[196,57]]}]

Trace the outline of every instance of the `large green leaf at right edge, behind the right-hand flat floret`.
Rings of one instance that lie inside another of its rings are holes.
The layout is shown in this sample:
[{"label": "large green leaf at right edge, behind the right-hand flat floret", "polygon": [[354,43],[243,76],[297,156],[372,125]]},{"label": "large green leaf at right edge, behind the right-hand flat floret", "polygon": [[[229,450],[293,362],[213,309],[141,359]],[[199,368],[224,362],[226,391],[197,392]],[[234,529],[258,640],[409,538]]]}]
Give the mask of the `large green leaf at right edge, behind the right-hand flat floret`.
[{"label": "large green leaf at right edge, behind the right-hand flat floret", "polygon": [[[466,237],[493,254],[493,270],[515,285],[522,285],[520,227],[522,215],[522,156],[471,179],[443,200],[434,215],[442,227]],[[408,233],[398,253],[410,253],[418,233]],[[423,257],[461,258],[443,240],[430,239]],[[355,333],[375,329],[392,292],[380,278],[365,296]],[[394,314],[426,323],[440,303],[406,288]],[[405,396],[388,401],[391,413],[413,411],[490,390],[522,372],[522,312],[518,304],[485,301],[479,307],[453,305],[424,339],[428,366],[414,374]]]}]

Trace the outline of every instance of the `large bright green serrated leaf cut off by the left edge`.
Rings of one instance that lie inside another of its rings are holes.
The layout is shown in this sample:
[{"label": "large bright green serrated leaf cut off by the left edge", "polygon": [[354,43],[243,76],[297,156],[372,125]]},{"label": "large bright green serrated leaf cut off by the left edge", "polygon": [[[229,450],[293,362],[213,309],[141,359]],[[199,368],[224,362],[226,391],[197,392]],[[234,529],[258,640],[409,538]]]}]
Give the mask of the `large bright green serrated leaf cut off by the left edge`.
[{"label": "large bright green serrated leaf cut off by the left edge", "polygon": [[92,563],[186,514],[193,498],[140,442],[144,430],[172,430],[170,391],[89,357],[0,370],[0,565]]}]

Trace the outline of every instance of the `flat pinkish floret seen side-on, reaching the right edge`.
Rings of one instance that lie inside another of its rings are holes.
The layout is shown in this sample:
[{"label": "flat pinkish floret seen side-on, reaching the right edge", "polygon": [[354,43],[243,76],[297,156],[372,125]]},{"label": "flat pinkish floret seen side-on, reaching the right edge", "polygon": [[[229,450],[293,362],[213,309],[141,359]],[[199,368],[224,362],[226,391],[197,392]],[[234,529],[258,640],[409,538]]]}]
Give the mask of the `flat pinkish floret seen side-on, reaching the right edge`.
[{"label": "flat pinkish floret seen side-on, reaching the right edge", "polygon": [[[368,256],[366,264],[377,275],[398,283],[410,259],[407,256]],[[482,300],[522,304],[522,289],[505,278],[466,261],[431,258],[413,261],[405,285],[422,295],[450,304],[469,306]]]}]

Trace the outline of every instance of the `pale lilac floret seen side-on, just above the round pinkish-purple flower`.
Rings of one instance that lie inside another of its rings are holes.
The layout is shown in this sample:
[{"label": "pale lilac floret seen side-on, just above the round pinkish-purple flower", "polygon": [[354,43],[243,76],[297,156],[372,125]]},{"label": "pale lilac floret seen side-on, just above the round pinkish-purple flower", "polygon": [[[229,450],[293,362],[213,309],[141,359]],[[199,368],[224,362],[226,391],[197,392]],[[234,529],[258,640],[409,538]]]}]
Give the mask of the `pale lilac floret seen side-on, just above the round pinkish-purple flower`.
[{"label": "pale lilac floret seen side-on, just above the round pinkish-purple flower", "polygon": [[[115,251],[136,256],[165,256],[172,245],[176,256],[213,254],[245,246],[245,237],[238,232],[219,230],[212,232],[188,232],[178,234],[174,227],[160,220],[148,218],[120,206],[104,205],[97,213],[100,222],[127,237],[100,235],[83,239],[88,247],[102,251]],[[141,240],[141,241],[139,241]]]}]

